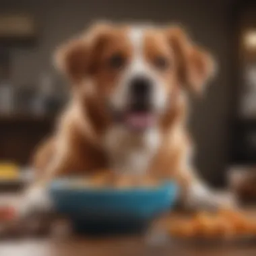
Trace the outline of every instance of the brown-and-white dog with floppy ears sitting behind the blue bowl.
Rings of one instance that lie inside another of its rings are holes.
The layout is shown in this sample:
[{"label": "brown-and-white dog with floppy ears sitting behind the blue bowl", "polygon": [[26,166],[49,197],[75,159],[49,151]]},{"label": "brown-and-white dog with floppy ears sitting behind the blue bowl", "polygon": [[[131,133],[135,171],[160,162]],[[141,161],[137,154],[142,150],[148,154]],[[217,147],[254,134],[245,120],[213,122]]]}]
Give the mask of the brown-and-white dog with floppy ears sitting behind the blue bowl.
[{"label": "brown-and-white dog with floppy ears sitting behind the blue bowl", "polygon": [[187,94],[203,92],[216,63],[183,28],[94,24],[57,49],[55,64],[71,84],[71,100],[34,156],[26,209],[39,195],[43,205],[55,177],[104,169],[175,179],[187,207],[232,201],[193,168]]}]

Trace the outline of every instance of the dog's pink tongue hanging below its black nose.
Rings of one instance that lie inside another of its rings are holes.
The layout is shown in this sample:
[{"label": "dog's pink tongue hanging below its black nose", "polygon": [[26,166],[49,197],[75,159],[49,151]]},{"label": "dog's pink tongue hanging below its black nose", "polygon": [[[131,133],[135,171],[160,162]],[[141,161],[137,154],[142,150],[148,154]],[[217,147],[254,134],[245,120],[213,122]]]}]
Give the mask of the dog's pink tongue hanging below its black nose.
[{"label": "dog's pink tongue hanging below its black nose", "polygon": [[150,113],[129,113],[126,123],[133,129],[146,129],[154,123],[154,117]]}]

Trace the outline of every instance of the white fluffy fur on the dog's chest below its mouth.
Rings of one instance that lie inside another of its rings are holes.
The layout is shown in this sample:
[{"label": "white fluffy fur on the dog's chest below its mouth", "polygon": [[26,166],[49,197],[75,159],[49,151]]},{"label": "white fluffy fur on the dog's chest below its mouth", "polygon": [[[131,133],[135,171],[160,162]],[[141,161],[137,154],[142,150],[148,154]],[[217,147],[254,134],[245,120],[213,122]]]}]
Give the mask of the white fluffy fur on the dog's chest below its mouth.
[{"label": "white fluffy fur on the dog's chest below its mouth", "polygon": [[104,146],[110,168],[121,172],[143,174],[160,146],[160,133],[150,129],[145,133],[131,133],[122,127],[113,127],[105,135]]}]

